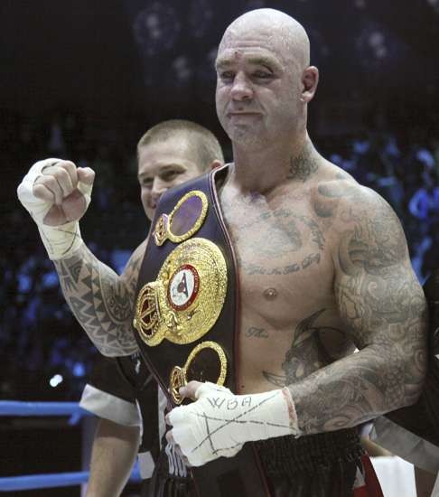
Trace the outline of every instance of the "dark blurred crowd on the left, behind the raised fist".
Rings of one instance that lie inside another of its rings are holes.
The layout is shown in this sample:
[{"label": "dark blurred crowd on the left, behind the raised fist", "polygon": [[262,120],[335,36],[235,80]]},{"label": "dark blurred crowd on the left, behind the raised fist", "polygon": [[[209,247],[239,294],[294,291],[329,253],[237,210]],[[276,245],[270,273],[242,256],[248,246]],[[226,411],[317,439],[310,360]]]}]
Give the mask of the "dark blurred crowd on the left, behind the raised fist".
[{"label": "dark blurred crowd on the left, behind the raised fist", "polygon": [[141,131],[127,123],[119,129],[112,123],[109,130],[105,119],[62,110],[47,120],[23,122],[14,114],[3,120],[9,136],[2,146],[5,183],[0,185],[7,192],[0,254],[0,399],[79,399],[98,352],[65,304],[57,273],[14,191],[38,159],[69,158],[93,168],[93,202],[81,232],[98,258],[121,272],[149,228],[136,179]]}]

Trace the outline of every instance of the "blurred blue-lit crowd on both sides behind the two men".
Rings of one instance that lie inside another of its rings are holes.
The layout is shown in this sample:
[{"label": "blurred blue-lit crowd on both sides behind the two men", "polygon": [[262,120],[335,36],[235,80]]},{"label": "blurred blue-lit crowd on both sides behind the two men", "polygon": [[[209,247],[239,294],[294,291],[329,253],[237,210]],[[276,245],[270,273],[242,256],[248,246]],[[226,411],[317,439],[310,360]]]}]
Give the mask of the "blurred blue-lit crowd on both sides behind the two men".
[{"label": "blurred blue-lit crowd on both sides behind the two men", "polygon": [[[120,272],[148,229],[135,173],[135,142],[148,123],[106,127],[63,110],[31,123],[10,114],[2,119],[8,130],[1,152],[2,188],[10,194],[2,212],[0,398],[77,400],[98,352],[65,304],[57,274],[14,189],[40,158],[70,158],[92,167],[96,182],[81,231],[98,258]],[[423,283],[439,266],[439,140],[416,132],[401,138],[389,128],[313,140],[324,156],[397,211]]]}]

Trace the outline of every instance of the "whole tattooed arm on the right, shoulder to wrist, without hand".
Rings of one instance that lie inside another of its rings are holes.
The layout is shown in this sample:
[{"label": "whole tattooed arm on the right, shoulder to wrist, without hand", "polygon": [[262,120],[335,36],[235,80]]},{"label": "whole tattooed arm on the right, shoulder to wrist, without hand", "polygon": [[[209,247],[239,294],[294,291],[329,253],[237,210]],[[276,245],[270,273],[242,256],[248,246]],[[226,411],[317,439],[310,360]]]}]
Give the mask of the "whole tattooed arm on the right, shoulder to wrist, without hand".
[{"label": "whole tattooed arm on the right, shoulder to wrist, without hand", "polygon": [[306,434],[412,404],[425,377],[425,297],[404,233],[385,202],[362,200],[343,212],[334,256],[339,314],[360,352],[288,386]]}]

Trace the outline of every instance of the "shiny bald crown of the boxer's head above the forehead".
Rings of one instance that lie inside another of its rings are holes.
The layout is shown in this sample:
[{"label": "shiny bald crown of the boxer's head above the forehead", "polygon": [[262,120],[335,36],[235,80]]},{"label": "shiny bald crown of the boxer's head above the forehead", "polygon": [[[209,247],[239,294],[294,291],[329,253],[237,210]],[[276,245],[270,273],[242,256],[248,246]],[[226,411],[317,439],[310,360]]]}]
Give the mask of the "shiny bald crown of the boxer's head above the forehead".
[{"label": "shiny bald crown of the boxer's head above the forehead", "polygon": [[304,26],[293,17],[275,9],[257,9],[240,15],[229,25],[219,47],[219,53],[237,40],[262,42],[276,46],[286,63],[294,62],[304,70],[310,64],[310,41]]}]

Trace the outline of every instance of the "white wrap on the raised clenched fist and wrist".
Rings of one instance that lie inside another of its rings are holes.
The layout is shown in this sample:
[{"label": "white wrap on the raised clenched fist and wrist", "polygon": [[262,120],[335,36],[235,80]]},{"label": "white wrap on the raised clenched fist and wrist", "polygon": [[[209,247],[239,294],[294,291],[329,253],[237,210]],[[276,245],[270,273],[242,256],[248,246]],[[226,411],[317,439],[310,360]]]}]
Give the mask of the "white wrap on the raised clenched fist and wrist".
[{"label": "white wrap on the raised clenched fist and wrist", "polygon": [[[66,222],[61,226],[44,224],[44,218],[51,210],[53,203],[42,201],[33,195],[33,183],[42,174],[42,170],[60,161],[61,159],[45,159],[33,164],[17,188],[18,199],[36,222],[42,243],[51,260],[69,257],[82,243],[77,220]],[[84,195],[87,205],[90,202],[91,188],[89,184],[78,183],[79,192]]]}]

